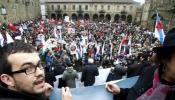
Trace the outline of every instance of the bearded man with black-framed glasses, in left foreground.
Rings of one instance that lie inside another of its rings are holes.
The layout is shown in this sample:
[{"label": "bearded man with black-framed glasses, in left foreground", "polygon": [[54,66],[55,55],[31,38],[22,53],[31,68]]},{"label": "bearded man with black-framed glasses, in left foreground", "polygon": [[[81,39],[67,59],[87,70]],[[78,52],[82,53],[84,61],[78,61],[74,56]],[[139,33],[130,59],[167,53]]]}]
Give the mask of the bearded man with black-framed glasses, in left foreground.
[{"label": "bearded man with black-framed glasses, in left foreground", "polygon": [[[0,48],[0,100],[46,100],[51,92],[33,46],[15,41]],[[71,100],[69,88],[62,88],[62,100]]]}]

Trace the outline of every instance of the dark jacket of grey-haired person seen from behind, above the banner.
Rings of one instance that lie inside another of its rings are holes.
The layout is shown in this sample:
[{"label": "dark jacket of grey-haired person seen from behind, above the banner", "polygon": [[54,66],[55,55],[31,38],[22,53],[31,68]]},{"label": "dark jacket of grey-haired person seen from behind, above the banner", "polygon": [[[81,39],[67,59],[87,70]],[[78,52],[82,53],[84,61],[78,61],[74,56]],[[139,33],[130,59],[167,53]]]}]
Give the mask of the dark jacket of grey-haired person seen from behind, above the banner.
[{"label": "dark jacket of grey-haired person seen from behind, above the banner", "polygon": [[82,71],[81,82],[84,82],[84,86],[91,86],[95,83],[95,76],[98,76],[99,72],[97,65],[87,64]]}]

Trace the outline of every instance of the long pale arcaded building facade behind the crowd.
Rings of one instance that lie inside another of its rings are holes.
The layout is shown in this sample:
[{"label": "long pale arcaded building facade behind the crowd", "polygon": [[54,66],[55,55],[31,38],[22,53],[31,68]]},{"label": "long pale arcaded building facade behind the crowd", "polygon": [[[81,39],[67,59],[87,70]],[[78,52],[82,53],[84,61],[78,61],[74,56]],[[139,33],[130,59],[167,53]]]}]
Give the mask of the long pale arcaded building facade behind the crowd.
[{"label": "long pale arcaded building facade behind the crowd", "polygon": [[139,21],[141,5],[133,0],[45,0],[47,17],[72,20]]}]

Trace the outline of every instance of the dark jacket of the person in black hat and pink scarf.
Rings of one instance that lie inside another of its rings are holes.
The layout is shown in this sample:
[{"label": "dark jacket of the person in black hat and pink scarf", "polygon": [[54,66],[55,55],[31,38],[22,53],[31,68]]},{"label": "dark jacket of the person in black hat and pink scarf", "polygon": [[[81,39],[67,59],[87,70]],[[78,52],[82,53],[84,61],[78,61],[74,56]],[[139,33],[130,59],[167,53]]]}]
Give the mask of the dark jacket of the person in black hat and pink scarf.
[{"label": "dark jacket of the person in black hat and pink scarf", "polygon": [[[145,68],[136,84],[130,89],[121,88],[121,92],[118,95],[114,95],[114,100],[136,100],[139,96],[152,87],[154,71],[156,68],[156,66]],[[175,95],[173,94],[175,94],[175,92],[168,93],[165,100],[175,100]]]}]

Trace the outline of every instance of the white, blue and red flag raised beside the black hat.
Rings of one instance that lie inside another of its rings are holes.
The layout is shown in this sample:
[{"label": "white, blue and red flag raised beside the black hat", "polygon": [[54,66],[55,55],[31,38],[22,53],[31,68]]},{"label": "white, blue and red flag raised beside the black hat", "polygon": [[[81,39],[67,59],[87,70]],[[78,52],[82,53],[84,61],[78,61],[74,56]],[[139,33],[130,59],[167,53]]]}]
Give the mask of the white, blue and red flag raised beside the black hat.
[{"label": "white, blue and red flag raised beside the black hat", "polygon": [[158,13],[157,13],[157,16],[156,16],[156,24],[155,24],[154,35],[160,41],[160,43],[163,44],[165,34],[164,34],[164,30],[163,30],[163,24],[160,21],[160,17],[158,15]]}]

